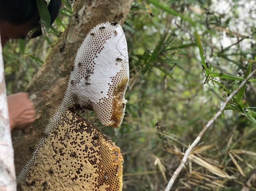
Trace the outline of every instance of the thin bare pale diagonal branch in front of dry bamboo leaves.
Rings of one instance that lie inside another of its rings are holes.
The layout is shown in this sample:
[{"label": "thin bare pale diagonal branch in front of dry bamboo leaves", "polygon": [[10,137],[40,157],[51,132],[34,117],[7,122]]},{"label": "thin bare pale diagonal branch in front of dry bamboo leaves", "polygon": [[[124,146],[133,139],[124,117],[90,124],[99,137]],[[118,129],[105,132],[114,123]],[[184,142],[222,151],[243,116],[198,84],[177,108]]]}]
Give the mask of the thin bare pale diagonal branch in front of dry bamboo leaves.
[{"label": "thin bare pale diagonal branch in front of dry bamboo leaves", "polygon": [[238,86],[238,88],[236,88],[236,90],[234,92],[232,92],[227,98],[226,100],[223,102],[223,104],[220,107],[220,110],[213,116],[213,118],[208,121],[208,123],[206,124],[206,126],[204,127],[204,129],[199,133],[199,135],[196,137],[195,141],[190,145],[190,147],[188,148],[188,150],[185,152],[181,163],[179,165],[179,167],[176,169],[176,171],[173,173],[172,178],[170,179],[167,187],[165,188],[164,191],[170,191],[170,189],[172,188],[172,185],[174,183],[174,181],[176,180],[176,178],[178,177],[178,175],[180,174],[180,171],[182,170],[182,168],[184,167],[185,163],[187,162],[188,159],[188,155],[190,154],[190,152],[192,151],[192,149],[196,146],[196,144],[200,141],[201,137],[204,135],[205,131],[212,125],[212,123],[220,116],[220,114],[223,112],[224,108],[226,107],[226,105],[228,104],[228,102],[234,97],[234,95],[236,95],[236,93],[248,82],[248,80],[256,73],[256,69],[252,71],[252,73],[246,77],[244,79],[244,81]]}]

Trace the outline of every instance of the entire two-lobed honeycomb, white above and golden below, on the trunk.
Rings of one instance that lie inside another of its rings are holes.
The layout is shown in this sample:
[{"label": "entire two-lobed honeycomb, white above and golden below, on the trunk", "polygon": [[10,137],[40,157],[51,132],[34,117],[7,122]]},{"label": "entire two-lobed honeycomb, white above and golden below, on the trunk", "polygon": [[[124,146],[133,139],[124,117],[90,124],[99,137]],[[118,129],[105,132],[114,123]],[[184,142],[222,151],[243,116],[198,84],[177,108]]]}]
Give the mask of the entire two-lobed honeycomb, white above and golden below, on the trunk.
[{"label": "entire two-lobed honeycomb, white above and golden below, on the trunk", "polygon": [[74,110],[95,110],[103,124],[118,127],[128,82],[122,27],[114,22],[95,26],[77,51],[60,107],[17,176],[18,190],[121,191],[120,149]]}]

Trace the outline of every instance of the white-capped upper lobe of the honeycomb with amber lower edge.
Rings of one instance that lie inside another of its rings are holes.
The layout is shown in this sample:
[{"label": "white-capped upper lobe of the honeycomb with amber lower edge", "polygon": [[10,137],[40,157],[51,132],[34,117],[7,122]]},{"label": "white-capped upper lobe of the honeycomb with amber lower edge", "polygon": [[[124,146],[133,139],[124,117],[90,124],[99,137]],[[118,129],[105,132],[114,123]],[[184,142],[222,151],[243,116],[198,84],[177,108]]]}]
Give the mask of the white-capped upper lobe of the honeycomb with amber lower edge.
[{"label": "white-capped upper lobe of the honeycomb with amber lower edge", "polygon": [[122,27],[103,23],[92,29],[77,51],[68,93],[93,109],[102,124],[118,127],[124,117],[129,82],[127,44]]}]

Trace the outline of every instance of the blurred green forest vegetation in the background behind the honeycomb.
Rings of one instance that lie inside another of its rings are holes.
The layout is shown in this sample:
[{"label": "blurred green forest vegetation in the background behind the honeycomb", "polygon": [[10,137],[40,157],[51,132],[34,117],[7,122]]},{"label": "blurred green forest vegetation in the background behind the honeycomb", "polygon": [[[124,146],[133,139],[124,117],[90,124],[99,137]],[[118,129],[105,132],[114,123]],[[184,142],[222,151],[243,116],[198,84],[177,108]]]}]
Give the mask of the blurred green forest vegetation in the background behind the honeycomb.
[{"label": "blurred green forest vegetation in the background behind the honeycomb", "polygon": [[[28,84],[71,14],[72,1],[63,1],[49,33],[4,48],[8,94]],[[186,148],[256,68],[255,26],[249,0],[135,0],[124,24],[130,56],[124,122],[102,128],[93,112],[85,114],[121,148],[123,190],[164,190]],[[253,82],[208,129],[172,190],[240,191],[247,181],[256,190]]]}]

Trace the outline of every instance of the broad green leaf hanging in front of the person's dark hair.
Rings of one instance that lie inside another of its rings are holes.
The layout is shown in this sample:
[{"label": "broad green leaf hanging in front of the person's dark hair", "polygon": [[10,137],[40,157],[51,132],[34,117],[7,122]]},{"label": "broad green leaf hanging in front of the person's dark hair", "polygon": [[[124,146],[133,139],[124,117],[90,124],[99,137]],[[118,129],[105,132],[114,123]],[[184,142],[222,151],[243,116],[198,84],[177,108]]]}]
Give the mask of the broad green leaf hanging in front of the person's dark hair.
[{"label": "broad green leaf hanging in front of the person's dark hair", "polygon": [[48,31],[51,26],[51,16],[47,9],[46,4],[44,3],[44,0],[36,0],[39,15],[40,15],[40,21],[41,21],[41,28],[42,32]]}]

